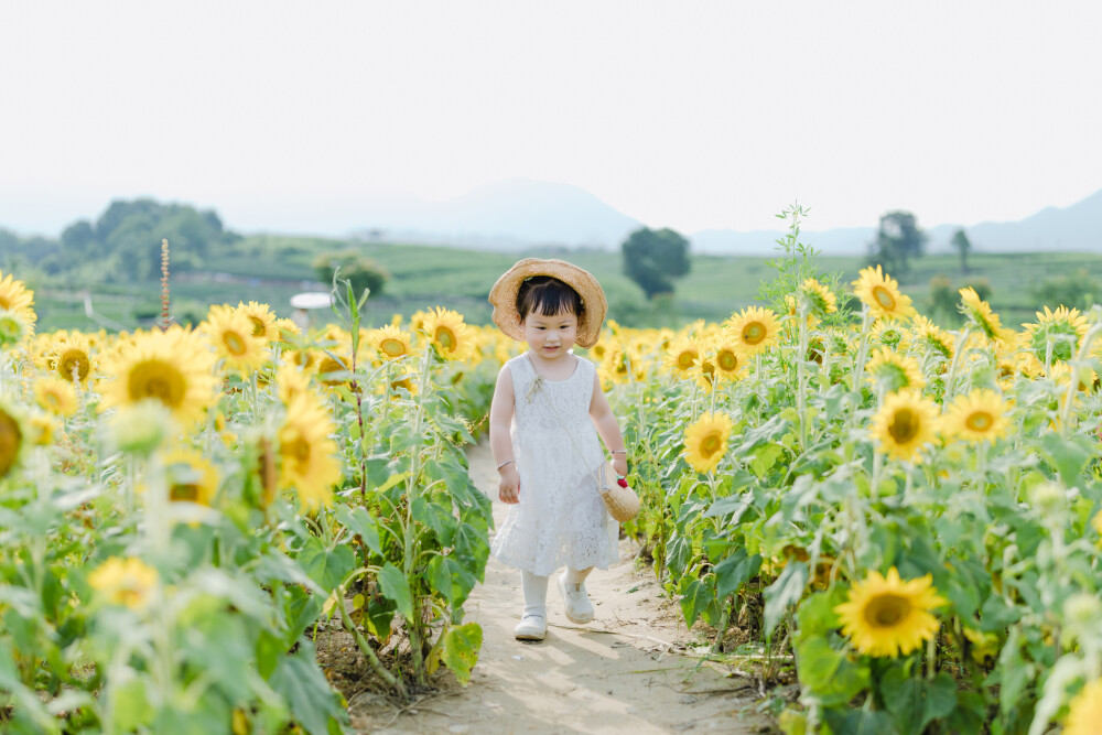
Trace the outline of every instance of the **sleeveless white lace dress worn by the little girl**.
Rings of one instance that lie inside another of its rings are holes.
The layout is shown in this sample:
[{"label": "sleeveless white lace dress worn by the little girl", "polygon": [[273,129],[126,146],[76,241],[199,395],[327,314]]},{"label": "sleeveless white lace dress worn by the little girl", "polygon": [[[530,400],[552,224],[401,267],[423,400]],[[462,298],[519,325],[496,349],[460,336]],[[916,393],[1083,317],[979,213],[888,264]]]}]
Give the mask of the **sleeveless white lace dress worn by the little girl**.
[{"label": "sleeveless white lace dress worn by the little girl", "polygon": [[512,451],[520,502],[509,507],[494,539],[494,556],[540,576],[563,565],[608,569],[616,559],[619,527],[605,510],[594,479],[605,460],[590,418],[593,363],[579,357],[565,380],[538,376],[526,355],[508,366],[516,399]]}]

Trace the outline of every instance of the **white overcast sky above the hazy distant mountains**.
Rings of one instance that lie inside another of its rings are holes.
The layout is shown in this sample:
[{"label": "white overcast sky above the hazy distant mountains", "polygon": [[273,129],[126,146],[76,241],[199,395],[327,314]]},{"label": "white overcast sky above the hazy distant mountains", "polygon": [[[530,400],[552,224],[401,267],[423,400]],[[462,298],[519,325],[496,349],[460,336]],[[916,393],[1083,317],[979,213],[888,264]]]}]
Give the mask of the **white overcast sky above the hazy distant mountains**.
[{"label": "white overcast sky above the hazy distant mountains", "polygon": [[1094,1],[0,0],[0,227],[512,177],[685,233],[1019,219],[1102,188],[1100,32]]}]

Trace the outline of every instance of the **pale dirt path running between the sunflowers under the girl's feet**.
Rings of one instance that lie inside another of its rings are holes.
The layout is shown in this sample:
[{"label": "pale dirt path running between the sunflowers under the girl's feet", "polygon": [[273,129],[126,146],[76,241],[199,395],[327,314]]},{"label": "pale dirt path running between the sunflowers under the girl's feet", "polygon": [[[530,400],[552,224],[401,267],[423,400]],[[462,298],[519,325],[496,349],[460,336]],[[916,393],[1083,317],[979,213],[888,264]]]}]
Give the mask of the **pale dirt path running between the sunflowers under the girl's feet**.
[{"label": "pale dirt path running between the sunflowers under the girl's feet", "polygon": [[[471,474],[490,495],[494,518],[497,473],[488,446],[471,450]],[[725,678],[698,660],[670,652],[685,640],[677,610],[662,612],[660,588],[649,572],[635,571],[633,544],[620,542],[620,561],[587,582],[596,619],[575,626],[562,613],[558,590],[548,592],[547,640],[514,639],[522,598],[520,573],[494,559],[486,582],[466,604],[468,620],[483,628],[483,647],[471,684],[445,687],[399,711],[378,696],[354,696],[353,725],[369,733],[759,733],[746,679]]]}]

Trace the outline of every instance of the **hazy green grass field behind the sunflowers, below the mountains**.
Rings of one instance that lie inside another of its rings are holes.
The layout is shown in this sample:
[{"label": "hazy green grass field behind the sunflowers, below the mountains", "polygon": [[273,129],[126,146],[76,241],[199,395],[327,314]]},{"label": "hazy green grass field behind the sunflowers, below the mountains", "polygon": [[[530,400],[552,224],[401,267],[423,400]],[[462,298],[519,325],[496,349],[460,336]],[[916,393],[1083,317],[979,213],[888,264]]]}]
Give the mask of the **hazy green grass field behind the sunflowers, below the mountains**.
[{"label": "hazy green grass field behind the sunflowers, below the mountains", "polygon": [[[813,242],[812,242],[813,245]],[[461,312],[469,322],[489,322],[486,302],[494,281],[518,258],[560,257],[590,270],[608,296],[609,316],[631,326],[676,326],[696,318],[720,321],[732,311],[756,302],[759,285],[773,278],[769,257],[692,257],[689,275],[677,282],[672,302],[650,304],[623,274],[619,252],[531,250],[517,253],[464,250],[396,244],[346,242],[322,238],[256,236],[237,242],[231,250],[212,257],[204,272],[176,273],[172,280],[173,314],[180,321],[198,320],[209,304],[238,301],[268,303],[287,316],[289,300],[300,291],[325,289],[316,281],[313,260],[322,252],[356,249],[372,258],[391,275],[385,293],[368,300],[367,321],[379,324],[395,313],[442,305]],[[857,277],[861,257],[820,257],[824,273],[838,272],[843,283]],[[992,287],[991,305],[1004,324],[1018,326],[1031,321],[1041,305],[1034,295],[1045,280],[1083,269],[1102,281],[1102,256],[1088,253],[973,253],[970,272],[961,272],[957,256],[926,256],[911,262],[899,278],[903,290],[919,311],[929,311],[930,281],[946,275],[953,288],[977,280]],[[40,328],[132,328],[149,324],[160,313],[160,284],[150,283],[110,291],[90,288],[93,316],[86,314],[83,296],[44,289],[36,298]],[[1058,304],[1049,304],[1056,306]],[[328,315],[321,315],[323,320]]]}]

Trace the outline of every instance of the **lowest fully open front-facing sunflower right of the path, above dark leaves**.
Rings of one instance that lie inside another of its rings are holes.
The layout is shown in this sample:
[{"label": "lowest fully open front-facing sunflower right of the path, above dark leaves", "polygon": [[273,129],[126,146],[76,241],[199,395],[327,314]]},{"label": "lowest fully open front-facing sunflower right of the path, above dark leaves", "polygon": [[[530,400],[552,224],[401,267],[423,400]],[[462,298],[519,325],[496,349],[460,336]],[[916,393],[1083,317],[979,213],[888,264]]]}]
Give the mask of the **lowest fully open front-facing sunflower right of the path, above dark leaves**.
[{"label": "lowest fully open front-facing sunflower right of the path, above dark leaves", "polygon": [[946,604],[932,582],[929,574],[904,582],[895,566],[886,577],[869,572],[850,588],[849,601],[834,608],[842,633],[866,656],[895,658],[920,648],[938,631],[930,610]]}]

